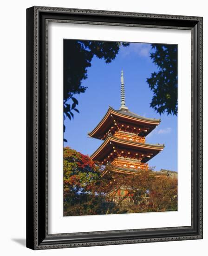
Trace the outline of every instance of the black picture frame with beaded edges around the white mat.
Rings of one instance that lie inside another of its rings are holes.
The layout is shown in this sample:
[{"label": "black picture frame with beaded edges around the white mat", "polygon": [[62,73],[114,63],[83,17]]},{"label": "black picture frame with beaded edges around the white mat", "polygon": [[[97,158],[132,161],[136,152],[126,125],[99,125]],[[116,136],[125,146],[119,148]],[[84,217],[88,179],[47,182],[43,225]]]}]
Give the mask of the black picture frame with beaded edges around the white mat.
[{"label": "black picture frame with beaded edges around the white mat", "polygon": [[[47,223],[47,25],[88,24],[188,29],[191,31],[191,226],[48,234]],[[202,239],[202,17],[31,7],[26,10],[26,247],[55,249],[124,243]]]}]

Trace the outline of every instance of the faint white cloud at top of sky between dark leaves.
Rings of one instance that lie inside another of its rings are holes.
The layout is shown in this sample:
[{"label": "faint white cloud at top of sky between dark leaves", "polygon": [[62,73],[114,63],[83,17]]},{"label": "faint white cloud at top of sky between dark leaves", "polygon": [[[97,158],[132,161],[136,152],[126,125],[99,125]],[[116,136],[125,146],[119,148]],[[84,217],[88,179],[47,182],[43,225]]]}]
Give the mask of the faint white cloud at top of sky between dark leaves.
[{"label": "faint white cloud at top of sky between dark leaves", "polygon": [[121,47],[120,53],[123,57],[128,56],[129,54],[137,54],[140,57],[149,57],[150,56],[151,45],[144,43],[130,43],[128,47]]}]

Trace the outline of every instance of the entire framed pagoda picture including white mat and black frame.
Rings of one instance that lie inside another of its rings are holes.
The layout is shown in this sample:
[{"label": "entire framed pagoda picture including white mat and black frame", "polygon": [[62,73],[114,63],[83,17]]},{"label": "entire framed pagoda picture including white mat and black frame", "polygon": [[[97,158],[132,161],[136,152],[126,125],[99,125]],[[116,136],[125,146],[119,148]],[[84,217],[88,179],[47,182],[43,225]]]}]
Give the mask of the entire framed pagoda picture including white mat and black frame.
[{"label": "entire framed pagoda picture including white mat and black frame", "polygon": [[202,17],[26,19],[26,246],[202,239]]}]

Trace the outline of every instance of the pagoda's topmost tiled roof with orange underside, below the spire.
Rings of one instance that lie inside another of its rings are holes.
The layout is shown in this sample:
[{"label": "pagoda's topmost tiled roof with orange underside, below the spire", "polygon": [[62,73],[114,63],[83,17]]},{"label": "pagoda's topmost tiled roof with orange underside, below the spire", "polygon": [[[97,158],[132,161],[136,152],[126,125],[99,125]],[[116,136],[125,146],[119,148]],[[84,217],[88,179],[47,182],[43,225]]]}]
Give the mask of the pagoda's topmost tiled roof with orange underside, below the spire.
[{"label": "pagoda's topmost tiled roof with orange underside, below the spire", "polygon": [[108,129],[111,127],[113,117],[134,125],[143,125],[148,126],[150,129],[145,133],[145,136],[148,135],[156,126],[160,123],[160,119],[146,118],[141,115],[137,115],[128,109],[119,109],[115,110],[112,107],[108,108],[108,111],[104,115],[103,119],[97,124],[97,126],[90,132],[88,135],[93,138],[101,139]]}]

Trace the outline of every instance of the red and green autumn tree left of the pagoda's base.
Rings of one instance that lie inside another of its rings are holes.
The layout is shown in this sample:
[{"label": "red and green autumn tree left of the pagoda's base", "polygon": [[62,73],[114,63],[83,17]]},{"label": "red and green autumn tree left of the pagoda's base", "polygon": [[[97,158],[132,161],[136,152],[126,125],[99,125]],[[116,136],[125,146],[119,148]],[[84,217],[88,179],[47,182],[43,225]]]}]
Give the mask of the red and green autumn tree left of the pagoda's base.
[{"label": "red and green autumn tree left of the pagoda's base", "polygon": [[89,156],[64,148],[64,216],[116,213],[104,196],[102,167]]}]

